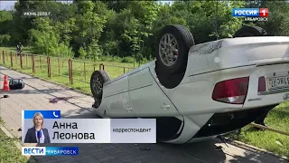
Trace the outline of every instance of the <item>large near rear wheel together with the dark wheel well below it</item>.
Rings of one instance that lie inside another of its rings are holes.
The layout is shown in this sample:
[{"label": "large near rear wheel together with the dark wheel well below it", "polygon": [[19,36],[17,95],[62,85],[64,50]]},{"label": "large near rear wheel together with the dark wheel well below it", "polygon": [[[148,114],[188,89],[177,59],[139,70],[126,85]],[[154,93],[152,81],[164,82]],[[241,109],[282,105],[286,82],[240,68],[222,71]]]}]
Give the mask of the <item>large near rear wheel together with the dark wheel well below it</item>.
[{"label": "large near rear wheel together with the dark wheel well below it", "polygon": [[194,40],[182,25],[166,25],[157,36],[155,72],[167,89],[182,82],[187,68],[188,54]]}]

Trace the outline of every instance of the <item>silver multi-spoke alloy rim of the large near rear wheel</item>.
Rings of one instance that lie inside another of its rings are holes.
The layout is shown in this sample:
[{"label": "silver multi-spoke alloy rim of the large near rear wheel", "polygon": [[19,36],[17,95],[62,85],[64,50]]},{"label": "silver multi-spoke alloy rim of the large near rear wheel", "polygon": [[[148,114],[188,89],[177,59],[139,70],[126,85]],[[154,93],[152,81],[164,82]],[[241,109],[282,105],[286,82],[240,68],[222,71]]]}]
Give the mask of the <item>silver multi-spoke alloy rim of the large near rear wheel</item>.
[{"label": "silver multi-spoke alloy rim of the large near rear wheel", "polygon": [[172,66],[177,62],[179,46],[172,34],[164,34],[159,43],[159,55],[166,66]]}]

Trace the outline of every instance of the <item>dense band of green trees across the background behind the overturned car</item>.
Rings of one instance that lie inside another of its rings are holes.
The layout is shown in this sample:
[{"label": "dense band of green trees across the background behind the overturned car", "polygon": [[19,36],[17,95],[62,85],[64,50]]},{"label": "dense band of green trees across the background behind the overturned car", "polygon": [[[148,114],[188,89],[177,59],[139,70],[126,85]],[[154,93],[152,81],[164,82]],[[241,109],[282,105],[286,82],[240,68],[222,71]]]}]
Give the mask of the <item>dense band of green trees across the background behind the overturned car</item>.
[{"label": "dense band of green trees across the background behind the overturned car", "polygon": [[[98,60],[103,55],[153,59],[155,36],[167,24],[190,29],[195,43],[228,38],[243,18],[235,7],[269,8],[268,22],[254,22],[271,35],[289,35],[289,5],[283,1],[24,1],[14,11],[0,11],[0,42],[31,43],[36,53]],[[49,11],[47,17],[24,17],[23,11]],[[6,35],[5,35],[6,34]],[[10,37],[9,37],[10,35]]]}]

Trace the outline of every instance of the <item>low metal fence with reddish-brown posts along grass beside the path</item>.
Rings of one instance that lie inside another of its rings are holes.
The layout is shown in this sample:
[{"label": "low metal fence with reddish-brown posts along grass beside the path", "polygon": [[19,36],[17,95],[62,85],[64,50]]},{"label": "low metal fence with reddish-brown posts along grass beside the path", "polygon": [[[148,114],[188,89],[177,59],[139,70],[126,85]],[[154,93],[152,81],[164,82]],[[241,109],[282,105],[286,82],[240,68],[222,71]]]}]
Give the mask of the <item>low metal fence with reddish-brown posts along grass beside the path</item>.
[{"label": "low metal fence with reddish-brown posts along grass beside the path", "polygon": [[103,62],[87,62],[70,58],[51,57],[33,53],[20,53],[2,51],[0,63],[21,72],[49,78],[55,82],[65,84],[90,82],[92,72],[106,70],[110,78],[129,72],[135,67],[105,64]]}]

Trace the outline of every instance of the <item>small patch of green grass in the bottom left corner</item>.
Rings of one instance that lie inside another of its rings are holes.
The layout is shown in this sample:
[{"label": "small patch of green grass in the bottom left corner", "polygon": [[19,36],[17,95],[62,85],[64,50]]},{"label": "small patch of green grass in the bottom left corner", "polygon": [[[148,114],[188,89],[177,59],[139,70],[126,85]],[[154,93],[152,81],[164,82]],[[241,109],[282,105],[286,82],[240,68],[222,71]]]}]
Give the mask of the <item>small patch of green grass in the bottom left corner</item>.
[{"label": "small patch of green grass in the bottom left corner", "polygon": [[14,139],[7,137],[0,129],[0,163],[21,163],[27,162],[27,158],[22,156],[21,150],[17,149]]}]

